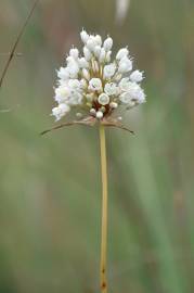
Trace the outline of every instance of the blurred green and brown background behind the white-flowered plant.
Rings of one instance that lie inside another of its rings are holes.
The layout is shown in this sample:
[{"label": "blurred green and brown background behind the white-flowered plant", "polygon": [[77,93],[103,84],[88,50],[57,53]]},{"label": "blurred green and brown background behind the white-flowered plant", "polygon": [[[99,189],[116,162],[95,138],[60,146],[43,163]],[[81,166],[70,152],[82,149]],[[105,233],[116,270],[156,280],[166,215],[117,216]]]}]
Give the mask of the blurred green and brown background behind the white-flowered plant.
[{"label": "blurred green and brown background behind the white-flowered plant", "polygon": [[[31,4],[0,1],[0,71]],[[99,292],[98,128],[39,136],[82,27],[128,44],[146,76],[125,117],[135,137],[106,130],[109,293],[193,293],[193,0],[40,1],[0,90],[0,292]]]}]

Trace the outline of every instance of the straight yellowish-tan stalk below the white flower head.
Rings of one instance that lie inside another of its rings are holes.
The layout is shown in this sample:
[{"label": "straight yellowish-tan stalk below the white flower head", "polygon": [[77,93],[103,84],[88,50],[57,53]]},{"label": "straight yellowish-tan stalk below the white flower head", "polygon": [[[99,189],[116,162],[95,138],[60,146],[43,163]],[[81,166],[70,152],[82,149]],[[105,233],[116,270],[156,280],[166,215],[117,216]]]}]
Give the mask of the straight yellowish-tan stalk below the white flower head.
[{"label": "straight yellowish-tan stalk below the white flower head", "polygon": [[102,170],[102,238],[101,238],[101,292],[107,293],[106,254],[107,254],[107,167],[105,129],[100,124],[101,170]]}]

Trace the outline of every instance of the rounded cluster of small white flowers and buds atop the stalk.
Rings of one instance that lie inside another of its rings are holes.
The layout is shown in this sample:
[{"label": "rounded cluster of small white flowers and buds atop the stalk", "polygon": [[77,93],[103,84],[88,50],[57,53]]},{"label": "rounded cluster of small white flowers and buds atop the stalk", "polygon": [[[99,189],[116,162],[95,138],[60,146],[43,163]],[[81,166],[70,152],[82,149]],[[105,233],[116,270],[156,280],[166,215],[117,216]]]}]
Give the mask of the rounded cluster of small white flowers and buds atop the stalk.
[{"label": "rounded cluster of small white flowers and buds atop the stalk", "polygon": [[142,72],[132,72],[132,60],[127,48],[120,49],[112,60],[113,39],[104,42],[99,35],[80,33],[83,54],[77,48],[69,51],[66,66],[57,72],[59,82],[54,100],[57,106],[52,110],[56,120],[73,107],[77,117],[108,117],[120,105],[127,109],[145,102],[140,87]]}]

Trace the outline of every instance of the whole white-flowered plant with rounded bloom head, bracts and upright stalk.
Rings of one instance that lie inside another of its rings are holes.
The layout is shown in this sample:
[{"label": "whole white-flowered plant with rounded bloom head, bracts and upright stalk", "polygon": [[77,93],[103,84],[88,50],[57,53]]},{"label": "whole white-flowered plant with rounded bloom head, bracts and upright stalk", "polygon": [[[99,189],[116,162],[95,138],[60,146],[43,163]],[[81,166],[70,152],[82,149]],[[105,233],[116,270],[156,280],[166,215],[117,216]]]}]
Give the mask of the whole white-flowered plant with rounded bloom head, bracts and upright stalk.
[{"label": "whole white-flowered plant with rounded bloom head, bracts and upright stalk", "polygon": [[[99,124],[101,173],[102,173],[102,242],[101,242],[101,292],[107,292],[106,250],[107,250],[107,166],[105,127],[124,126],[121,113],[145,102],[141,88],[143,73],[133,71],[133,60],[128,48],[112,54],[113,39],[104,41],[99,35],[80,33],[83,42],[82,54],[72,48],[66,56],[66,65],[57,71],[57,86],[54,89],[56,106],[52,116],[59,122],[72,112],[75,118],[42,132],[70,125]],[[132,132],[131,130],[129,130]]]}]

